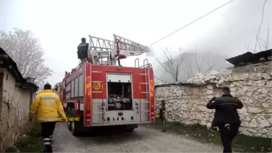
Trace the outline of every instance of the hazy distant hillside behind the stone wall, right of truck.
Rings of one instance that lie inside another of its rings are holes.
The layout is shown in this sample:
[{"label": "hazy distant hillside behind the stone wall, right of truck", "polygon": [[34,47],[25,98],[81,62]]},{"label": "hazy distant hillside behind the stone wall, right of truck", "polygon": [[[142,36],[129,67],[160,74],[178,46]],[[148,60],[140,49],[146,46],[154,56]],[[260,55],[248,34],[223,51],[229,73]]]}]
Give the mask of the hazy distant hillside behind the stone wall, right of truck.
[{"label": "hazy distant hillside behind the stone wall, right of truck", "polygon": [[[227,56],[216,55],[215,53],[209,52],[183,52],[178,57],[173,58],[173,62],[177,63],[181,58],[183,58],[183,61],[179,69],[179,81],[194,77],[197,73],[205,73],[212,70],[220,71],[221,69],[231,66],[231,64],[225,60]],[[163,65],[166,69],[169,68],[167,62],[164,62]],[[162,66],[155,69],[154,74],[161,79],[155,79],[156,82],[175,82],[173,76],[169,74],[169,72],[166,72]]]}]

